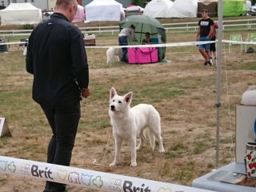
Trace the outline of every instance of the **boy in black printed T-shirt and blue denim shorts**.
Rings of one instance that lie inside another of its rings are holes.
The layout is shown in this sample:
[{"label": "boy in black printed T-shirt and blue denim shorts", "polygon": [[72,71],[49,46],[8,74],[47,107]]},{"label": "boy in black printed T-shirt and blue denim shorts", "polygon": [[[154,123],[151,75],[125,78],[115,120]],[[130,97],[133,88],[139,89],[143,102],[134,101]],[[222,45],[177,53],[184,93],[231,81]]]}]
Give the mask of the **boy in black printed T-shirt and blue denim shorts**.
[{"label": "boy in black printed T-shirt and blue denim shorts", "polygon": [[[202,10],[202,19],[198,22],[198,32],[196,41],[205,42],[210,41],[212,34],[214,33],[214,21],[209,18],[208,10]],[[210,61],[210,43],[198,45],[198,49],[202,57],[205,58],[204,65],[210,66],[213,65],[212,61]]]}]

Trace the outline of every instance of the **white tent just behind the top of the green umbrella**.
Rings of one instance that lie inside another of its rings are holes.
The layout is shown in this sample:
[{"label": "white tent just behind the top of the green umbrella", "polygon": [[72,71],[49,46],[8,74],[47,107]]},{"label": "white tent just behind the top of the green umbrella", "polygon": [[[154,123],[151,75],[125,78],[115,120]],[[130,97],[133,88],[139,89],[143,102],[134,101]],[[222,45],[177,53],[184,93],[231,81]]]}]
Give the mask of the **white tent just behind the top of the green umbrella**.
[{"label": "white tent just behind the top of the green umbrella", "polygon": [[152,18],[170,18],[170,8],[173,4],[170,0],[152,0],[146,5],[143,14]]}]

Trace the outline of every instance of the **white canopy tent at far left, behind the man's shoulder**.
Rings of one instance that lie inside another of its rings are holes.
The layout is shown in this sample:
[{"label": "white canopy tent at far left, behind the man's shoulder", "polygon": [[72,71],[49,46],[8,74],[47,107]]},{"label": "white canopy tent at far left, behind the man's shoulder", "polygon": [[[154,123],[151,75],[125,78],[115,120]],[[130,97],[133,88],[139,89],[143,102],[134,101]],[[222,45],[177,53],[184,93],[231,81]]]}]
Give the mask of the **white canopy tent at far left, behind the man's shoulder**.
[{"label": "white canopy tent at far left, behind the man's shoulder", "polygon": [[30,2],[10,3],[0,10],[1,26],[38,24],[42,22],[42,10]]}]

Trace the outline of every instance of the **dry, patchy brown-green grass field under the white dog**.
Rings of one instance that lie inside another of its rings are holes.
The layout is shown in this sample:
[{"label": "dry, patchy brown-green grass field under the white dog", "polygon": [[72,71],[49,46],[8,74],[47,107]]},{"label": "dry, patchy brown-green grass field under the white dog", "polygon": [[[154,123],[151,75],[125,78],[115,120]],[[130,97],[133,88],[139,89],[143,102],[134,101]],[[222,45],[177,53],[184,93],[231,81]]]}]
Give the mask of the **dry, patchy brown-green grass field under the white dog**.
[{"label": "dry, patchy brown-green grass field under the white dog", "polygon": [[[237,31],[235,33],[238,33]],[[243,38],[249,31],[239,31]],[[230,39],[232,32],[223,34]],[[195,34],[167,34],[167,42],[191,42]],[[116,36],[98,35],[96,43],[117,45]],[[14,46],[10,50],[15,50]],[[203,66],[196,46],[168,47],[169,63],[106,65],[106,49],[86,48],[90,65],[90,98],[82,101],[82,118],[71,166],[191,186],[194,178],[215,168],[217,67]],[[256,54],[240,46],[222,46],[220,166],[234,161],[235,106],[248,86],[255,85]],[[11,138],[0,139],[4,156],[45,162],[50,127],[31,98],[33,77],[26,73],[22,51],[0,54],[0,117]],[[149,142],[138,151],[138,166],[130,167],[130,148],[124,143],[119,166],[114,158],[108,102],[110,87],[120,94],[134,92],[132,106],[150,103],[162,118],[165,154],[151,151]],[[99,165],[94,165],[94,159]],[[0,175],[0,191],[42,191],[44,182]],[[68,186],[69,191],[89,191]]]}]

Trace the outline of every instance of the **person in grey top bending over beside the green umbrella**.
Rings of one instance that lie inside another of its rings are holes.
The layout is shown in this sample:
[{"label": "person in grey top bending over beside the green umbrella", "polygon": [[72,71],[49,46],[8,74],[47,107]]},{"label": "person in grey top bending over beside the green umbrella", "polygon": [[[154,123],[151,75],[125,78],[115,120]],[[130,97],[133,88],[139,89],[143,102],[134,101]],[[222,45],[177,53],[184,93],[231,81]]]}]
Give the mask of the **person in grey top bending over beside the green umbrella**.
[{"label": "person in grey top bending over beside the green umbrella", "polygon": [[[134,37],[135,26],[130,25],[128,28],[123,28],[118,34],[118,42],[119,46],[128,46],[128,38],[132,38],[133,41],[137,41]],[[127,47],[122,47],[122,57],[120,59],[121,62],[128,62],[126,58]]]}]

